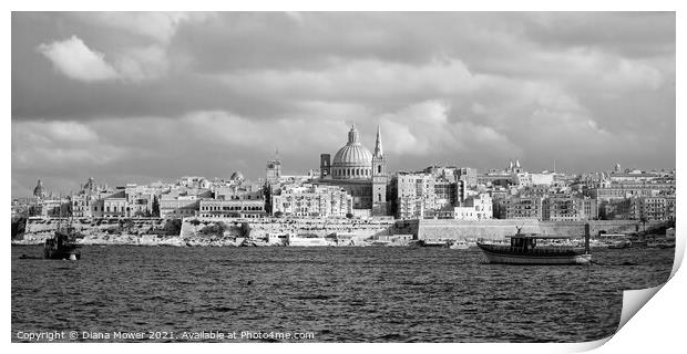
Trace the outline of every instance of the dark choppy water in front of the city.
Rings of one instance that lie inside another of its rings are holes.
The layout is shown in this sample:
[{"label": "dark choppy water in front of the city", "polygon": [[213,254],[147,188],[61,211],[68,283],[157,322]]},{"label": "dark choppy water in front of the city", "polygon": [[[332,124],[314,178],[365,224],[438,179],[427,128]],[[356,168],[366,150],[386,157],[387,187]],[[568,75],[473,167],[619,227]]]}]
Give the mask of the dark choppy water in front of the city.
[{"label": "dark choppy water in front of the city", "polygon": [[674,250],[599,249],[595,261],[624,266],[582,267],[488,264],[479,249],[431,248],[109,246],[84,247],[80,261],[21,254],[40,257],[42,248],[12,247],[13,342],[20,331],[578,342],[613,334],[622,290],[665,282]]}]

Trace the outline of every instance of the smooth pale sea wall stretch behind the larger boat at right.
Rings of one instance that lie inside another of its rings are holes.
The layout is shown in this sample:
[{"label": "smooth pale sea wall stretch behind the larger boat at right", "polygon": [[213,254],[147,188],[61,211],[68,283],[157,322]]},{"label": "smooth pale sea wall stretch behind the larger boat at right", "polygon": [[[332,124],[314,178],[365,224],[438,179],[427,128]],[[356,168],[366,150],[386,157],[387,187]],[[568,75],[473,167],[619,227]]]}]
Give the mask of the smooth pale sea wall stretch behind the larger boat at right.
[{"label": "smooth pale sea wall stretch behind the larger boat at right", "polygon": [[[541,235],[556,235],[578,237],[585,232],[585,223],[589,223],[589,235],[604,233],[630,233],[643,230],[644,226],[636,220],[588,220],[588,221],[537,221],[536,219],[490,219],[480,221],[468,220],[419,220],[419,239],[459,239],[459,238],[485,238],[501,239],[513,235],[517,227],[522,232],[535,232]],[[650,229],[663,222],[647,222]]]}]

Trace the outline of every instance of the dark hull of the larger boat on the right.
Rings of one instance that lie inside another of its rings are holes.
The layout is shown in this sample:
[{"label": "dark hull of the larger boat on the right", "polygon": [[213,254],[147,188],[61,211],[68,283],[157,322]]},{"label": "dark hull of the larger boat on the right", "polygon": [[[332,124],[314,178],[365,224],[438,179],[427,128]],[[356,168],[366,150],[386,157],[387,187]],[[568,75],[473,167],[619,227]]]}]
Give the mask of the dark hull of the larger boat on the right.
[{"label": "dark hull of the larger boat on the right", "polygon": [[489,244],[478,243],[490,263],[498,264],[587,264],[592,261],[592,254],[578,252],[542,252],[542,253],[516,253],[496,251]]}]

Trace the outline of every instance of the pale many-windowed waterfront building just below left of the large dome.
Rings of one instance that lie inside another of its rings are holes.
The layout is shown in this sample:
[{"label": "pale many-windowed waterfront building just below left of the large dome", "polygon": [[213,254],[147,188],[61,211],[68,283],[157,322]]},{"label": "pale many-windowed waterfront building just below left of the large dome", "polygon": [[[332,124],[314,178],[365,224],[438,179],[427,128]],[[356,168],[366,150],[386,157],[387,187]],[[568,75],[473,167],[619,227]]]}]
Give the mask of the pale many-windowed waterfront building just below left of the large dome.
[{"label": "pale many-windowed waterfront building just below left of the large dome", "polygon": [[271,198],[271,211],[295,217],[345,218],[353,212],[353,201],[344,188],[306,184],[283,187]]}]

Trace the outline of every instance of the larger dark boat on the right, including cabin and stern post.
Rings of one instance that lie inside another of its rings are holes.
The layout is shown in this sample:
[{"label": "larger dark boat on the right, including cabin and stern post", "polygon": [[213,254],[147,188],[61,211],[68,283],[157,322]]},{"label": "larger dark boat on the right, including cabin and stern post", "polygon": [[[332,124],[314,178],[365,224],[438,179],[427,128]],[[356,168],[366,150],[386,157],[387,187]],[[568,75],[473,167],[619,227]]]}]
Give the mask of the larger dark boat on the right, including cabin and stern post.
[{"label": "larger dark boat on the right, including cabin and stern post", "polygon": [[589,236],[585,232],[585,246],[557,246],[556,241],[571,239],[564,236],[517,233],[510,237],[510,243],[478,242],[490,263],[502,264],[586,264],[592,261]]}]

